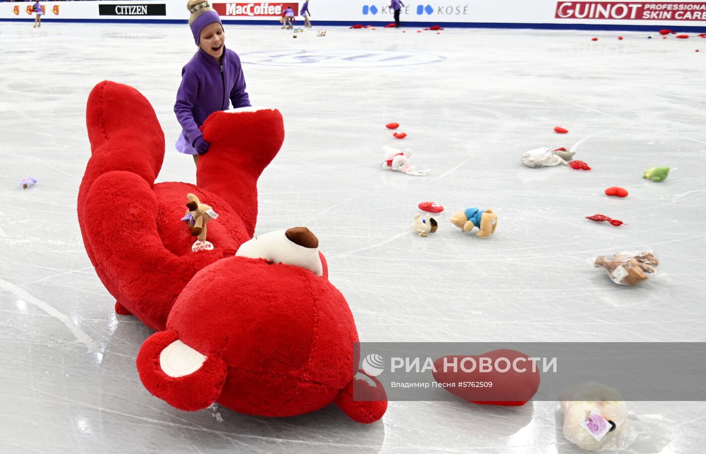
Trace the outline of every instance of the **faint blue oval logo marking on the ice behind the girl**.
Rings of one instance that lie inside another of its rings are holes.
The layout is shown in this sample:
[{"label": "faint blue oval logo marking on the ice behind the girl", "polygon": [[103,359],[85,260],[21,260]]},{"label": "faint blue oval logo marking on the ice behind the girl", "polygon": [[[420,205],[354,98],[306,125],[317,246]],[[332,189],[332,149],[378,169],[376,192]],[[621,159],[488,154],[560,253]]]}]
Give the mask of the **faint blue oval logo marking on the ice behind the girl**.
[{"label": "faint blue oval logo marking on the ice behind the girl", "polygon": [[243,63],[271,66],[311,65],[317,68],[376,68],[381,66],[426,65],[444,61],[445,56],[411,51],[331,50],[261,51],[239,54]]}]

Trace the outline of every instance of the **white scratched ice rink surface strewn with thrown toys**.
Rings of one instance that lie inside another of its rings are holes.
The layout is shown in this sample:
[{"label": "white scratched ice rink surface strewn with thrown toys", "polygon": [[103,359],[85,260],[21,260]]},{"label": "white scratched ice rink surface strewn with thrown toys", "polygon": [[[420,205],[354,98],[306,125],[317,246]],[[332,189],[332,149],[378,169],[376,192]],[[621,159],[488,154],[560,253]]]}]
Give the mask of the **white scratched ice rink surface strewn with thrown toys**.
[{"label": "white scratched ice rink surface strewn with thrown toys", "polygon": [[[285,117],[256,233],[318,235],[362,341],[706,341],[706,40],[225,30],[253,104]],[[85,103],[101,80],[136,87],[167,137],[158,181],[195,183],[193,161],[172,147],[195,50],[186,25],[0,23],[0,453],[580,452],[551,402],[393,402],[364,426],[334,406],[283,419],[181,412],[143,388],[135,358],[150,330],[114,314],[80,237]],[[383,145],[409,147],[431,173],[381,170]],[[520,164],[542,146],[570,147],[593,170]],[[670,166],[669,178],[643,180],[652,166]],[[39,183],[23,190],[27,176]],[[609,186],[630,196],[606,197]],[[409,226],[427,200],[446,211],[420,238]],[[496,211],[492,238],[448,222],[467,207]],[[597,213],[628,225],[584,219]],[[661,275],[623,288],[592,267],[623,250],[654,251]],[[671,431],[661,453],[703,452],[706,404],[628,408]]]}]

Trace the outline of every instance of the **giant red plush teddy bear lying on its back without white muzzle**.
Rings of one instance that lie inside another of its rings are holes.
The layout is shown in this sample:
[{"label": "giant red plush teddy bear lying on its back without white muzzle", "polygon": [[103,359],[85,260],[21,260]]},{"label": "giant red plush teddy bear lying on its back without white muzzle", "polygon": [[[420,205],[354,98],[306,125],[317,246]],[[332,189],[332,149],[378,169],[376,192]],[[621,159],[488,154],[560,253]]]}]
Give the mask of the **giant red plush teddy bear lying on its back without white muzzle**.
[{"label": "giant red plush teddy bear lying on its back without white muzzle", "polygon": [[[116,312],[158,330],[137,357],[150,393],[182,410],[217,401],[251,415],[290,416],[335,402],[358,422],[383,416],[381,384],[355,373],[355,322],[323,255],[323,276],[235,256],[255,230],[258,177],[284,140],[279,111],[211,115],[196,186],[154,183],[164,133],[132,87],[96,85],[86,123],[92,157],[78,194],[83,242]],[[193,237],[180,221],[187,193],[220,214],[208,225],[214,250],[191,252]],[[366,401],[353,400],[354,383]]]}]

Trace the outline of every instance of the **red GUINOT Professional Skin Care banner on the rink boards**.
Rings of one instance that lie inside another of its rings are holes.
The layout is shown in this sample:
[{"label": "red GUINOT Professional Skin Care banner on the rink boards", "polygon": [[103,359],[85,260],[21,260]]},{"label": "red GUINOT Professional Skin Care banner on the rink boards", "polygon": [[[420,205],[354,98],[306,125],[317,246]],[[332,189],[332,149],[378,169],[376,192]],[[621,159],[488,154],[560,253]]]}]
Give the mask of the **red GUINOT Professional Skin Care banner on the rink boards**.
[{"label": "red GUINOT Professional Skin Care banner on the rink boards", "polygon": [[702,20],[706,23],[706,3],[558,1],[554,18],[582,20]]}]

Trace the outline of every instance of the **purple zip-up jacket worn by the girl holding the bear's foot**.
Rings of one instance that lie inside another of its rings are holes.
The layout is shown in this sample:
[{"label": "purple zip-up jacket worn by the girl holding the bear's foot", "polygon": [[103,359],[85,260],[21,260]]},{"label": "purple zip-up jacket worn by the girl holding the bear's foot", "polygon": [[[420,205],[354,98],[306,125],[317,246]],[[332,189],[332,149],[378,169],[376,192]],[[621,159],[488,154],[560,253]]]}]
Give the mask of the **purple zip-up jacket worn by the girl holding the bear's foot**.
[{"label": "purple zip-up jacket worn by the girl holding the bear's foot", "polygon": [[[230,49],[223,49],[223,59],[218,63],[202,49],[191,58],[181,70],[181,85],[177,92],[174,113],[181,124],[181,135],[186,144],[191,145],[201,137],[203,121],[215,111],[233,107],[250,106],[250,98],[245,91],[245,77],[240,65],[240,57]],[[181,140],[179,140],[181,142]],[[184,144],[184,145],[186,145]],[[180,152],[195,154],[186,149]]]}]

